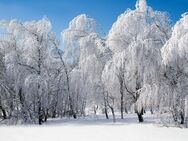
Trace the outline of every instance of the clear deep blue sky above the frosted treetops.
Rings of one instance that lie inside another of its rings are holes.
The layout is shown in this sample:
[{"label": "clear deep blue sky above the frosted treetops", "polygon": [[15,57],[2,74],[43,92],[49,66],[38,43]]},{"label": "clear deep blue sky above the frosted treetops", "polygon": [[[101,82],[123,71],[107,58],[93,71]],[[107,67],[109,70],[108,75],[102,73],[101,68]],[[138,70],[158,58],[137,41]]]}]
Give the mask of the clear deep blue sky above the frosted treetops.
[{"label": "clear deep blue sky above the frosted treetops", "polygon": [[[188,11],[188,0],[147,0],[155,10],[170,13],[173,23]],[[47,16],[57,35],[79,14],[87,14],[108,32],[113,22],[136,0],[0,0],[0,19],[34,20]]]}]

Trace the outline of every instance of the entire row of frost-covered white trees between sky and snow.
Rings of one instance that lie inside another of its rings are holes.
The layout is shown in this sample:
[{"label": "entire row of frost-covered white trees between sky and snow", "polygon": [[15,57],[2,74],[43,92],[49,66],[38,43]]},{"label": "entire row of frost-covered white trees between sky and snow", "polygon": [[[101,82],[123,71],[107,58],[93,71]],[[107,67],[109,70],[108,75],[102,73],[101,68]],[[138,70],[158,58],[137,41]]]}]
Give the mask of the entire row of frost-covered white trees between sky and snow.
[{"label": "entire row of frost-covered white trees between sky and snow", "polygon": [[[188,126],[188,15],[138,0],[103,33],[82,14],[58,39],[48,18],[0,20],[0,118],[42,124],[49,118],[102,113],[116,121],[159,114]],[[186,125],[187,124],[187,125]]]}]

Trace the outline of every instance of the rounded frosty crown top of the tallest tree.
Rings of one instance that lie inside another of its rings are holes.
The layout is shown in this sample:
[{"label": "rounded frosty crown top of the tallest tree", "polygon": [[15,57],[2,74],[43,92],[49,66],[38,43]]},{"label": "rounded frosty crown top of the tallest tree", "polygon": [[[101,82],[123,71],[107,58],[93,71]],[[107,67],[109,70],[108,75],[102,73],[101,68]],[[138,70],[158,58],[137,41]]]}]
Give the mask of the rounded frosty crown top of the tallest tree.
[{"label": "rounded frosty crown top of the tallest tree", "polygon": [[127,9],[113,24],[107,44],[113,52],[121,52],[138,40],[153,40],[161,47],[169,38],[169,29],[165,12],[153,10],[146,0],[138,0],[136,9]]}]

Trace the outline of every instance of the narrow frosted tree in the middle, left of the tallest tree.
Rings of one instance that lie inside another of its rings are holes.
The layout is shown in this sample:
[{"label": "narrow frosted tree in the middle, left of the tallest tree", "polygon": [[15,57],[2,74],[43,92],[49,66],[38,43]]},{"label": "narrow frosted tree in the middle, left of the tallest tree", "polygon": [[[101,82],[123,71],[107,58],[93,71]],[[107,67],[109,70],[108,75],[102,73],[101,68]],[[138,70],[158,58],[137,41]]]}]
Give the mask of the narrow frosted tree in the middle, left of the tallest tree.
[{"label": "narrow frosted tree in the middle, left of the tallest tree", "polygon": [[[65,43],[64,60],[69,67],[70,79],[74,80],[75,78],[72,77],[75,76],[80,77],[79,91],[82,93],[80,92],[79,95],[85,96],[85,102],[89,107],[98,107],[100,100],[96,100],[96,98],[100,97],[98,92],[101,92],[99,90],[101,89],[101,73],[110,56],[104,39],[100,37],[96,29],[96,21],[82,14],[74,18],[70,22],[69,28],[62,33]],[[72,90],[74,86],[75,89],[78,89],[75,84],[71,84]],[[76,90],[71,92],[73,99],[75,99],[75,92]]]}]

